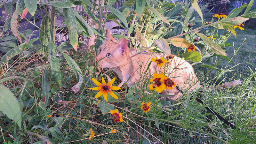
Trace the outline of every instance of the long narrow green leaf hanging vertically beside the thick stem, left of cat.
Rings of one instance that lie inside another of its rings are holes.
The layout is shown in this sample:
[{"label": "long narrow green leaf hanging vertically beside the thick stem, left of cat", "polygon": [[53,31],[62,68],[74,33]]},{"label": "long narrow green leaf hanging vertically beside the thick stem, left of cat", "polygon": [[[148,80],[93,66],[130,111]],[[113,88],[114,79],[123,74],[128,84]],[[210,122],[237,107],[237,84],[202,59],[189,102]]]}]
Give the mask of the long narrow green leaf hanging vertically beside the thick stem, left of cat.
[{"label": "long narrow green leaf hanging vertically beside the thick stem, left of cat", "polygon": [[52,78],[53,80],[61,86],[61,74],[60,74],[60,62],[59,59],[55,56],[55,43],[53,42],[53,33],[52,33],[52,27],[50,29],[50,35],[49,35],[49,44],[48,44],[48,61],[50,70],[52,72]]}]

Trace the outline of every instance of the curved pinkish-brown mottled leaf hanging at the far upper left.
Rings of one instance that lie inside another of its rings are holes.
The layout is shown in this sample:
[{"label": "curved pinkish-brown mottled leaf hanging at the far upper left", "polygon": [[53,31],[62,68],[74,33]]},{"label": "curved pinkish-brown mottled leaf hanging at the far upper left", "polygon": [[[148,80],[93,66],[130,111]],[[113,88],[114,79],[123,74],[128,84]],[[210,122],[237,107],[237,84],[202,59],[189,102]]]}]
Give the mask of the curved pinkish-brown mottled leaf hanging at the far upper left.
[{"label": "curved pinkish-brown mottled leaf hanging at the far upper left", "polygon": [[12,29],[12,33],[14,34],[14,36],[18,39],[18,41],[20,43],[22,43],[20,35],[18,33],[18,26],[19,26],[19,14],[17,12],[17,10],[14,11],[13,15],[12,15],[12,19],[11,19],[11,29]]}]

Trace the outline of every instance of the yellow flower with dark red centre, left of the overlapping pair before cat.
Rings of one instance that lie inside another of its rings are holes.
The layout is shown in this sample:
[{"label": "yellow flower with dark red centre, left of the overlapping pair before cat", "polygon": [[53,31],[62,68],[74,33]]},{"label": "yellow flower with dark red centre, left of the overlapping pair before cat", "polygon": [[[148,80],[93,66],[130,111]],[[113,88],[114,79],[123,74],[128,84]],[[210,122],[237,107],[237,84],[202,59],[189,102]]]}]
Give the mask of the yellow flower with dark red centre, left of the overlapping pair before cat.
[{"label": "yellow flower with dark red centre, left of the overlapping pair before cat", "polygon": [[165,90],[166,86],[164,84],[164,77],[164,73],[154,73],[153,79],[149,80],[149,82],[154,82],[148,86],[149,90],[156,90],[158,93],[161,93],[162,90]]}]

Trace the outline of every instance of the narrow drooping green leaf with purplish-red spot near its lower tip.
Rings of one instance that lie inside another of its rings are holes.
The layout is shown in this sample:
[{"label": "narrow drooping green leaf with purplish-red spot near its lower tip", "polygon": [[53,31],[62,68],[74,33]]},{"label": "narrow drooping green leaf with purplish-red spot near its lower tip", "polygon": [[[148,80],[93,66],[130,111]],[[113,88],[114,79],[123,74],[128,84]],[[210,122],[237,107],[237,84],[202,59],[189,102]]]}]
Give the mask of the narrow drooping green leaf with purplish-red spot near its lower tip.
[{"label": "narrow drooping green leaf with purplish-red spot near its lower tip", "polygon": [[50,86],[49,86],[49,81],[48,81],[48,64],[45,65],[45,68],[44,68],[41,87],[42,87],[43,99],[45,97],[45,102],[42,102],[42,103],[43,103],[43,106],[44,106],[44,110],[46,110],[47,103],[48,103],[48,100],[49,100],[49,94],[50,94],[49,93],[50,92]]}]

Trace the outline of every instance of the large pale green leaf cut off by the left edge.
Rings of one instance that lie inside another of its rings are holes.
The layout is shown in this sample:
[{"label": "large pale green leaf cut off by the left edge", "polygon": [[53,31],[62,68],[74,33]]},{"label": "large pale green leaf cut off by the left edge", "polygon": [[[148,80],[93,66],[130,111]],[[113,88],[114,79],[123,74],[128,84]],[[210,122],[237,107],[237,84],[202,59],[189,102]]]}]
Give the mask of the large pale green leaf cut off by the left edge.
[{"label": "large pale green leaf cut off by the left edge", "polygon": [[12,92],[2,84],[0,84],[0,111],[21,128],[20,105]]}]

